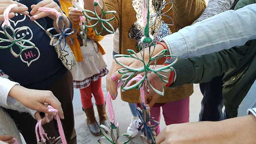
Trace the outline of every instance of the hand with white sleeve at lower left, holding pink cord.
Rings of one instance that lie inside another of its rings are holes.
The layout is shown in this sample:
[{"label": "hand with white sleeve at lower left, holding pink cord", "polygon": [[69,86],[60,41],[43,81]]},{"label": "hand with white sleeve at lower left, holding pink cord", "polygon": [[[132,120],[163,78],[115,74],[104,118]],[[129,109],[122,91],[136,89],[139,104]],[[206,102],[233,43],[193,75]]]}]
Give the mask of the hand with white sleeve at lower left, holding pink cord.
[{"label": "hand with white sleeve at lower left, holding pink cord", "polygon": [[48,112],[47,107],[44,105],[45,103],[47,103],[57,109],[60,118],[64,119],[61,103],[52,94],[51,91],[26,89],[23,86],[15,85],[10,90],[9,96],[15,98],[17,101],[19,101],[21,104],[29,109],[34,109],[38,112],[44,112],[49,115],[55,115],[55,112]]}]

